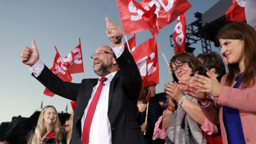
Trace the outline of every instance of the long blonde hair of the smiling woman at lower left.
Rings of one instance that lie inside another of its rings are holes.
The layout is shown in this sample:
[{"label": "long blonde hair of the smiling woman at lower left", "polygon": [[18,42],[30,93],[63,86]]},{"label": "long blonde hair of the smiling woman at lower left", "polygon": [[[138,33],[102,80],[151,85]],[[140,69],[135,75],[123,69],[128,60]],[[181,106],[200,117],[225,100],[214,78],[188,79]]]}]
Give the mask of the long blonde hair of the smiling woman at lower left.
[{"label": "long blonde hair of the smiling woman at lower left", "polygon": [[[39,138],[40,137],[42,138],[47,133],[46,127],[44,125],[44,112],[46,111],[47,108],[50,108],[50,107],[54,108],[54,110],[56,111],[55,107],[52,105],[47,105],[42,109],[42,111],[39,115],[38,121],[37,121],[35,134],[32,139],[32,144],[35,144],[36,141],[41,141]],[[56,113],[57,113],[57,111],[56,111]],[[60,119],[59,119],[58,113],[57,113],[56,121],[52,125],[52,130],[55,133],[55,142],[61,144],[62,143],[62,133],[61,133],[61,128],[60,128]]]}]

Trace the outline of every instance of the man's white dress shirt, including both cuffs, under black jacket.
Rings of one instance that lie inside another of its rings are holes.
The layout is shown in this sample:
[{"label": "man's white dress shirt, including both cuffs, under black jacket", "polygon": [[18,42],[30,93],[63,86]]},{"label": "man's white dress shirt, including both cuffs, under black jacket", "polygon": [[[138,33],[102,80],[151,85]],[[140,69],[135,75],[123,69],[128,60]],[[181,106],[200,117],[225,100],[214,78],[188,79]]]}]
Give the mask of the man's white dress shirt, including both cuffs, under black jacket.
[{"label": "man's white dress shirt, including both cuffs, under black jacket", "polygon": [[[112,48],[114,54],[116,55],[116,58],[120,57],[121,54],[124,52],[124,44],[122,43],[121,47],[112,47],[112,43],[110,44],[110,47]],[[29,69],[33,72],[33,74],[37,77],[41,74],[41,72],[44,69],[44,63],[39,60],[34,66],[29,67]],[[90,136],[89,136],[89,144],[112,144],[111,141],[111,126],[108,119],[108,95],[109,95],[109,87],[110,82],[112,81],[113,77],[116,75],[117,71],[112,72],[108,74],[106,77],[108,78],[107,81],[104,82],[100,98],[97,103],[93,118],[92,118],[92,124],[90,128]],[[99,77],[100,79],[100,77]],[[92,89],[92,95],[91,98],[88,101],[88,104],[86,108],[84,109],[84,115],[81,119],[81,129],[83,132],[84,127],[84,121],[86,118],[86,114],[89,108],[89,105],[91,104],[92,97],[94,96],[94,93],[96,92],[98,86],[99,86],[99,80],[98,83],[93,87]],[[82,140],[82,136],[81,136]]]}]

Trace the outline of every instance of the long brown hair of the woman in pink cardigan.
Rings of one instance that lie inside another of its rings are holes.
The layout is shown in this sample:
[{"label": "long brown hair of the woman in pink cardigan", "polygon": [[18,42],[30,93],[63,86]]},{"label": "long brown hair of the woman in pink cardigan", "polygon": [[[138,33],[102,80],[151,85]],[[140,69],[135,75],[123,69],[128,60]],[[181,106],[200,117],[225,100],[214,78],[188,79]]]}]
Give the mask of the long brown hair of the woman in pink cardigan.
[{"label": "long brown hair of the woman in pink cardigan", "polygon": [[[248,87],[255,84],[256,76],[256,31],[244,22],[230,22],[225,25],[216,35],[219,39],[243,40],[244,41],[244,72],[241,77],[242,86]],[[228,76],[224,83],[231,86],[239,72],[238,64],[228,64]]]}]

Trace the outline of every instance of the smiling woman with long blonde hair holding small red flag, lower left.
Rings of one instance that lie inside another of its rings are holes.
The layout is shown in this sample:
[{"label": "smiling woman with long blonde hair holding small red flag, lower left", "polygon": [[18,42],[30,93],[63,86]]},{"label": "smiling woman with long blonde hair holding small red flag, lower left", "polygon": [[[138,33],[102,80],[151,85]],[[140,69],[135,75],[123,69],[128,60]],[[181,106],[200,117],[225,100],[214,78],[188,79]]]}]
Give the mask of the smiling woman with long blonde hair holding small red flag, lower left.
[{"label": "smiling woman with long blonde hair holding small red flag, lower left", "polygon": [[[52,130],[55,138],[44,138],[44,135]],[[63,144],[60,119],[54,106],[45,106],[38,118],[35,132],[31,134],[29,144]]]}]

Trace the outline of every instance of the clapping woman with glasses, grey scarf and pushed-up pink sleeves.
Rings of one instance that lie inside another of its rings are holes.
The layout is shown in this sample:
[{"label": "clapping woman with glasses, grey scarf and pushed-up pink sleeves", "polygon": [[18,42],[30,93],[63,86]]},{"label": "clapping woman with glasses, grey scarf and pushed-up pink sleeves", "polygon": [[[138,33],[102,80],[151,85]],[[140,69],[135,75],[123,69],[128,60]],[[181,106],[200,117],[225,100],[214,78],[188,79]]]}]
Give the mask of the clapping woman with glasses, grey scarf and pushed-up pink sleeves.
[{"label": "clapping woman with glasses, grey scarf and pushed-up pink sleeves", "polygon": [[207,143],[200,125],[212,124],[205,123],[205,116],[197,104],[197,99],[186,95],[179,89],[177,83],[178,80],[189,82],[196,73],[206,75],[206,69],[190,53],[174,55],[170,68],[176,82],[165,85],[165,92],[169,95],[169,105],[156,123],[153,139],[166,139],[167,144]]}]

